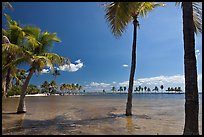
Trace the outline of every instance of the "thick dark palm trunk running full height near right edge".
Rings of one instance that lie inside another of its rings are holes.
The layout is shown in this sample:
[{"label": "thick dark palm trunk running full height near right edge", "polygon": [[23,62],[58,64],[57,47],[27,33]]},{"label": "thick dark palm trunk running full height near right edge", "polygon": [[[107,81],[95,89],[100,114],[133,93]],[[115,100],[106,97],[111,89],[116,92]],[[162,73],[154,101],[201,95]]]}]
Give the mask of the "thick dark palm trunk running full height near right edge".
[{"label": "thick dark palm trunk running full height near right edge", "polygon": [[185,126],[184,135],[198,135],[198,85],[192,2],[183,2]]}]

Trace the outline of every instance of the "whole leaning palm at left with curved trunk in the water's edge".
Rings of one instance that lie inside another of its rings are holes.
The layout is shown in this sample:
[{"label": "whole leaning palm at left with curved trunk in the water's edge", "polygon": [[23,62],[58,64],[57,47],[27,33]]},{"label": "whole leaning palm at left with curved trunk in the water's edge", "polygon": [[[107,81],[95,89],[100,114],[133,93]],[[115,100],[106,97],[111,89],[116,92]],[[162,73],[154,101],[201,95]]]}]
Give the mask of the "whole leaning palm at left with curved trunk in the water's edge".
[{"label": "whole leaning palm at left with curved trunk in the water's edge", "polygon": [[[54,41],[60,42],[59,38],[56,36],[56,33],[48,33],[43,32],[41,33],[40,29],[33,29],[31,27],[28,27],[26,29],[26,32],[30,32],[30,34],[27,36],[26,40],[24,41],[24,46],[18,47],[24,51],[24,55],[22,55],[21,58],[16,59],[15,61],[7,64],[3,70],[5,71],[10,66],[16,65],[19,61],[26,61],[30,68],[28,69],[28,76],[25,79],[25,82],[22,86],[22,93],[20,96],[19,106],[17,109],[17,113],[25,113],[26,107],[25,107],[25,95],[26,90],[29,84],[29,81],[32,77],[32,75],[36,73],[40,73],[44,67],[51,68],[52,72],[53,64],[64,64],[68,63],[68,59],[65,59],[57,54],[49,53],[49,48],[53,44]],[[6,44],[4,44],[3,49],[10,48]],[[16,47],[17,48],[17,47]],[[12,49],[12,48],[10,48]]]}]

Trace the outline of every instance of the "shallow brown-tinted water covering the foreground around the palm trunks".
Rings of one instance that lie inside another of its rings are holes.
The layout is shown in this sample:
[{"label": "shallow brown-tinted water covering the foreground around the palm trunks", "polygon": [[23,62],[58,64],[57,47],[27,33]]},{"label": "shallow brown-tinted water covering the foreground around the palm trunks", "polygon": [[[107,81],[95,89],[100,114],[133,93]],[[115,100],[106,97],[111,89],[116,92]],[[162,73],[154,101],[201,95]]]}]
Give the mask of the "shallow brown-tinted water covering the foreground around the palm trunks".
[{"label": "shallow brown-tinted water covering the foreground around the palm trunks", "polygon": [[[202,134],[202,94],[199,131]],[[134,94],[133,116],[125,116],[126,94],[26,97],[27,113],[15,114],[19,98],[2,101],[3,135],[182,134],[184,94]]]}]

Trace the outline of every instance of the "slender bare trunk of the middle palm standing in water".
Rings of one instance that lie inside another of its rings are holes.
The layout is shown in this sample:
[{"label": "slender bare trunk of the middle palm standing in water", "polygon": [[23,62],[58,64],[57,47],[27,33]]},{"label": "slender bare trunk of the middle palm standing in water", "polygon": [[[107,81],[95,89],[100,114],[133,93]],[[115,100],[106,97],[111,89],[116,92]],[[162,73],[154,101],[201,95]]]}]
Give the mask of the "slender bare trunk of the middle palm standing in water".
[{"label": "slender bare trunk of the middle palm standing in water", "polygon": [[136,36],[137,36],[137,18],[134,19],[134,32],[133,32],[133,44],[132,44],[132,63],[130,70],[130,78],[129,78],[129,88],[128,88],[128,98],[126,104],[126,116],[132,115],[132,90],[134,84],[134,75],[136,68]]}]

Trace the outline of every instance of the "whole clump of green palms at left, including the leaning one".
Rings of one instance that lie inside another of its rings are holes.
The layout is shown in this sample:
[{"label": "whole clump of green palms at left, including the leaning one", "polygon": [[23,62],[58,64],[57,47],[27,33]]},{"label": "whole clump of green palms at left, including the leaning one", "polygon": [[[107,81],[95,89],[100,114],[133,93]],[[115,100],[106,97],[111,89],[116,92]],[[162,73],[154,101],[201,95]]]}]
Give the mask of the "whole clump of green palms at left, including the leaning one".
[{"label": "whole clump of green palms at left, including the leaning one", "polygon": [[17,66],[22,63],[29,65],[17,109],[17,113],[25,113],[26,90],[33,74],[41,73],[44,67],[49,67],[53,72],[53,64],[63,65],[69,61],[50,53],[53,42],[60,42],[56,33],[42,32],[40,28],[30,25],[21,26],[7,14],[5,17],[8,25],[6,29],[2,28],[2,90],[6,96],[11,79],[15,77],[16,81],[19,80]]}]

